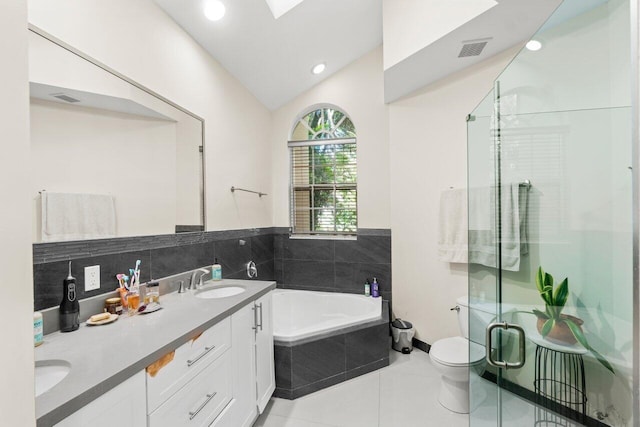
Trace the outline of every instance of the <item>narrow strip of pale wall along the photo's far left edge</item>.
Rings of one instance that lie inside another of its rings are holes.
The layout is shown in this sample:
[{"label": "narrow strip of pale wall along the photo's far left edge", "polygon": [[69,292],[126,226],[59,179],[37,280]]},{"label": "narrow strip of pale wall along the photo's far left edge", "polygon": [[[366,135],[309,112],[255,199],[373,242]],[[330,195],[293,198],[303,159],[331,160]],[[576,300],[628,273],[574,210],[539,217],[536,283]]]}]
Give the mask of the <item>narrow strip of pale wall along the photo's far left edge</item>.
[{"label": "narrow strip of pale wall along the photo's far left edge", "polygon": [[0,332],[0,414],[3,425],[29,427],[35,426],[35,400],[26,14],[25,1],[0,4],[0,51],[11,59],[0,68],[0,292],[7,321]]}]

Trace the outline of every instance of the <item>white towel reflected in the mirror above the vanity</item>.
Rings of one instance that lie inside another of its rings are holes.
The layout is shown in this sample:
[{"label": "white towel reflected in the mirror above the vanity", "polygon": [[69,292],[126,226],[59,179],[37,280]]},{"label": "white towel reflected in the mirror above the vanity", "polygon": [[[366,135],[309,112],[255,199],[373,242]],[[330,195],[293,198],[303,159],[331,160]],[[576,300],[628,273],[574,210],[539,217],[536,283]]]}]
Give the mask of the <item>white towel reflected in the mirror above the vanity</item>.
[{"label": "white towel reflected in the mirror above the vanity", "polygon": [[116,237],[112,196],[42,192],[42,241]]}]

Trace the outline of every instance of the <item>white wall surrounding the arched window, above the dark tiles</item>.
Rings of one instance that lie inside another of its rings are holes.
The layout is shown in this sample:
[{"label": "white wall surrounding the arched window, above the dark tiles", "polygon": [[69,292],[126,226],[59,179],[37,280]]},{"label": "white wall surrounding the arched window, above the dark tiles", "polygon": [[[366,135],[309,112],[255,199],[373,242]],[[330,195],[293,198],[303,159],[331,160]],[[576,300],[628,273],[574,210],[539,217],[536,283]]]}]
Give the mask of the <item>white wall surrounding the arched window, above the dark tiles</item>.
[{"label": "white wall surrounding the arched window, above the dark tiles", "polygon": [[383,90],[379,47],[273,113],[271,193],[276,226],[289,226],[287,141],[292,126],[306,108],[329,103],[351,117],[358,135],[358,227],[390,227],[388,117]]}]

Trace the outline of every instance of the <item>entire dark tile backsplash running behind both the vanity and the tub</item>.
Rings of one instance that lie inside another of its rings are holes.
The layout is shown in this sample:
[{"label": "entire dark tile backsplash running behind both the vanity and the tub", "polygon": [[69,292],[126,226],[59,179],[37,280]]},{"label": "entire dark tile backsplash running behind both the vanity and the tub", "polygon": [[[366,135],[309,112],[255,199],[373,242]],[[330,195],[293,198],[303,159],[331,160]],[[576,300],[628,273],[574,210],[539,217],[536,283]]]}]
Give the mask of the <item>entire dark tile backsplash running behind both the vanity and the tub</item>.
[{"label": "entire dark tile backsplash running behind both the vanity and the tub", "polygon": [[[215,258],[223,277],[247,278],[246,263],[253,260],[258,280],[276,280],[284,288],[363,293],[365,280],[375,276],[382,297],[391,300],[390,230],[359,230],[357,240],[323,240],[291,239],[286,228],[261,228],[34,244],[34,308],[60,303],[70,260],[82,299],[113,291],[115,275],[128,274],[137,259],[146,282],[211,265]],[[91,265],[100,265],[100,289],[84,292],[84,267]]]}]

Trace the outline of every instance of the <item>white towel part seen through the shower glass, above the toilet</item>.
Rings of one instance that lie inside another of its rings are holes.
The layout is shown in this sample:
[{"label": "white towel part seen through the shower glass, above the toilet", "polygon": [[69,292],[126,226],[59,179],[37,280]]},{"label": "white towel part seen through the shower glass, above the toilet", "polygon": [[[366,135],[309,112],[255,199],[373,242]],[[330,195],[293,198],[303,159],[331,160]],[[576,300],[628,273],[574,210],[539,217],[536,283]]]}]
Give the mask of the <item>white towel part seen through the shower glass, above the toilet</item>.
[{"label": "white towel part seen through the shower glass, above the toilet", "polygon": [[[522,191],[527,191],[523,189]],[[498,233],[495,224],[496,189],[473,189],[469,193],[469,262],[497,267]],[[520,230],[526,227],[520,221],[520,185],[509,184],[501,191],[502,217],[502,269],[520,270]],[[525,207],[526,208],[526,207]],[[526,252],[525,252],[526,253]]]}]

